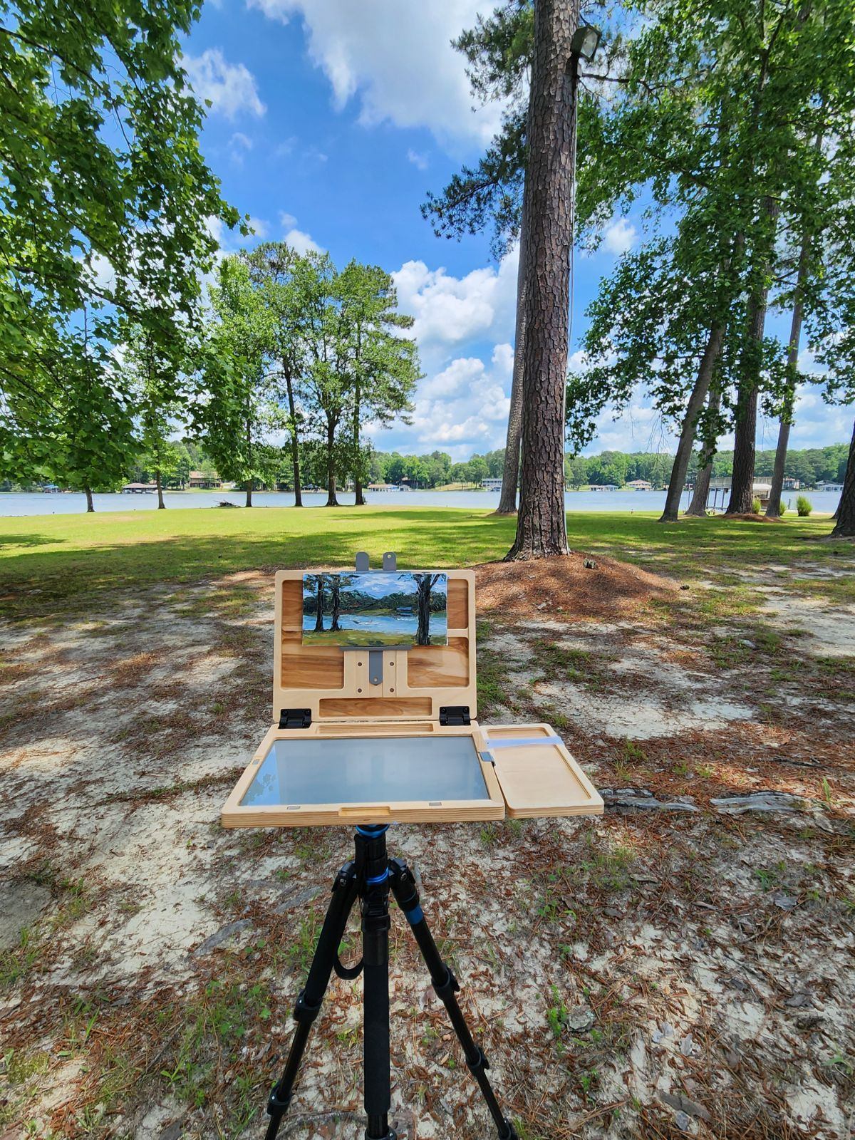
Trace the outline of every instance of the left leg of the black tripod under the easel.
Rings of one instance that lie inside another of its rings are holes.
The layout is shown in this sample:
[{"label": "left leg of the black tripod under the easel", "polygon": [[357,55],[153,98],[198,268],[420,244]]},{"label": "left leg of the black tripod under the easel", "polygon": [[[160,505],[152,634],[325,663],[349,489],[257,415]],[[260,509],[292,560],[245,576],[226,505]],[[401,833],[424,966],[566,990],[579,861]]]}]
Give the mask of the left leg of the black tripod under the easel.
[{"label": "left leg of the black tripod under the easel", "polygon": [[294,1007],[296,1032],[294,1033],[294,1040],[291,1042],[285,1069],[274,1085],[274,1090],[267,1101],[270,1123],[267,1126],[266,1140],[275,1140],[276,1133],[279,1131],[282,1117],[291,1104],[294,1082],[300,1069],[300,1062],[303,1059],[306,1042],[309,1040],[312,1021],[320,1012],[324,993],[329,985],[329,975],[333,972],[334,963],[339,956],[339,946],[344,935],[348,915],[353,906],[356,896],[356,870],[353,863],[350,862],[345,863],[335,877],[333,895],[329,899],[324,926],[320,930],[318,945],[315,947],[315,956],[309,968],[309,977]]}]

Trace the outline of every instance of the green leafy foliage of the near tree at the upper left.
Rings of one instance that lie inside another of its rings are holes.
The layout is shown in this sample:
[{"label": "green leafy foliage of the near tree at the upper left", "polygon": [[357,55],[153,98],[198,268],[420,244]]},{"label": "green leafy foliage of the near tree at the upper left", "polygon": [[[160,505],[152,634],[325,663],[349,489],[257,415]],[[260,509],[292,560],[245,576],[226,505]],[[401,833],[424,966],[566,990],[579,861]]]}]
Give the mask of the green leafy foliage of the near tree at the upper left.
[{"label": "green leafy foliage of the near tree at the upper left", "polygon": [[0,3],[0,473],[114,486],[132,437],[111,348],[193,321],[228,225],[186,84],[188,0]]}]

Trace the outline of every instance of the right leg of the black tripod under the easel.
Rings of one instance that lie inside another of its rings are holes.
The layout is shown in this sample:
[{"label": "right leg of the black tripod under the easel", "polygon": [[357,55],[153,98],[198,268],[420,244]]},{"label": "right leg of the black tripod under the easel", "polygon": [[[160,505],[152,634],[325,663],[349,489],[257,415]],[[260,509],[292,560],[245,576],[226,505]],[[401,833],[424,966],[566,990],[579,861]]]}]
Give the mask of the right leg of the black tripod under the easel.
[{"label": "right leg of the black tripod under the easel", "polygon": [[422,952],[422,958],[430,970],[431,982],[433,983],[437,996],[443,1002],[454,1026],[454,1032],[457,1034],[457,1040],[463,1045],[466,1064],[475,1081],[478,1081],[483,1099],[490,1110],[490,1116],[496,1125],[499,1140],[519,1140],[516,1130],[504,1115],[496,1100],[496,1093],[492,1091],[492,1085],[486,1072],[490,1066],[483,1049],[472,1040],[472,1034],[469,1031],[461,1007],[457,1004],[455,994],[461,987],[457,978],[455,978],[449,967],[442,961],[433,936],[427,929],[422,907],[418,905],[418,891],[416,890],[413,872],[402,860],[398,858],[389,861],[389,871],[392,893],[398,905],[407,917],[413,935],[418,943],[418,948]]}]

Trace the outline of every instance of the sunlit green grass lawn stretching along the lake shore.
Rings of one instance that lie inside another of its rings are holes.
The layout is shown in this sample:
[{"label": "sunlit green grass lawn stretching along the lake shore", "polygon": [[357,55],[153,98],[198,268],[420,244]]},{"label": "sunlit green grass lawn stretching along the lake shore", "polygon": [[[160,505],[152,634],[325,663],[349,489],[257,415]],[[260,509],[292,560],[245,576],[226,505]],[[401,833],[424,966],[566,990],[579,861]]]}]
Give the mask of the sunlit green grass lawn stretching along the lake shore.
[{"label": "sunlit green grass lawn stretching along the lake shore", "polygon": [[[500,559],[514,529],[514,519],[486,511],[430,507],[189,508],[2,518],[0,612],[80,610],[105,591],[237,570],[347,567],[360,549],[368,551],[375,565],[384,551],[396,551],[405,568],[471,565]],[[662,526],[653,513],[568,515],[575,549],[610,554],[679,578],[722,576],[722,581],[744,565],[850,559],[852,544],[816,542],[830,530],[828,518],[780,523],[692,519]]]}]

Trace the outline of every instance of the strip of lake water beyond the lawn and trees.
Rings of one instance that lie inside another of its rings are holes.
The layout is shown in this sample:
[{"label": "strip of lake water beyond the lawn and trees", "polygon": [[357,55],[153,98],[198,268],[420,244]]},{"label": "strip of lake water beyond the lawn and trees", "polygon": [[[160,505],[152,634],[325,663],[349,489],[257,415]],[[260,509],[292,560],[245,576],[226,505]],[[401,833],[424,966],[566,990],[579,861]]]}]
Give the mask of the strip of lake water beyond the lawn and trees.
[{"label": "strip of lake water beyond the lawn and trees", "polygon": [[[797,491],[787,491],[784,503],[796,508]],[[817,513],[833,514],[840,502],[838,492],[806,491],[807,497]],[[165,491],[166,507],[215,508],[220,502],[243,506],[243,491]],[[475,511],[495,511],[498,505],[498,491],[376,491],[366,492],[370,506],[394,507],[447,507],[458,506]],[[144,495],[95,495],[96,511],[154,511],[157,507],[155,494]],[[294,495],[291,491],[256,491],[252,497],[254,507],[293,506]],[[339,502],[342,506],[353,503],[352,491],[341,491]],[[568,511],[661,511],[665,506],[665,491],[568,491],[564,496]],[[720,502],[720,496],[719,500]],[[304,492],[306,506],[323,506],[326,503],[326,491]],[[681,506],[685,507],[689,496],[684,495]],[[710,506],[712,499],[710,498]],[[43,494],[40,491],[0,491],[0,516],[33,514],[82,514],[85,512],[85,496],[75,491],[64,494]]]}]

